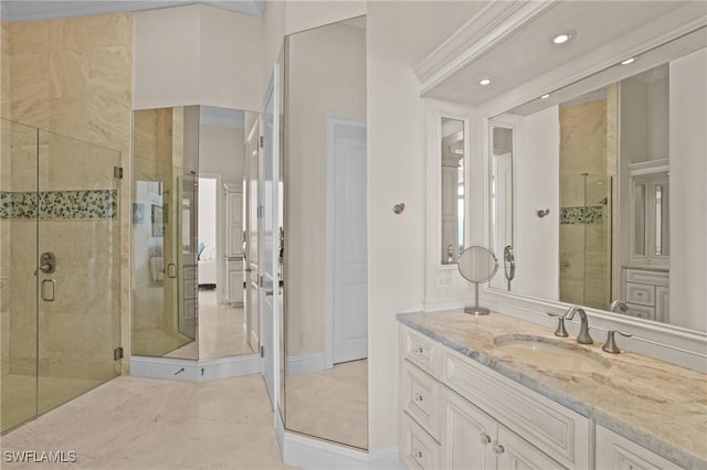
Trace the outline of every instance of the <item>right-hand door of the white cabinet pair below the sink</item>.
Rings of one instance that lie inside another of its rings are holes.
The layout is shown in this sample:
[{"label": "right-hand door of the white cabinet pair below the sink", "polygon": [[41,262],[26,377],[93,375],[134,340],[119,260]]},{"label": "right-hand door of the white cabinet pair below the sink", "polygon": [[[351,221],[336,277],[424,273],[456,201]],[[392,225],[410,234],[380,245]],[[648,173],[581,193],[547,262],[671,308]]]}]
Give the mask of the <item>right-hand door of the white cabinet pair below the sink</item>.
[{"label": "right-hand door of the white cabinet pair below the sink", "polygon": [[494,447],[498,455],[498,470],[566,469],[504,426],[498,426],[498,441]]}]

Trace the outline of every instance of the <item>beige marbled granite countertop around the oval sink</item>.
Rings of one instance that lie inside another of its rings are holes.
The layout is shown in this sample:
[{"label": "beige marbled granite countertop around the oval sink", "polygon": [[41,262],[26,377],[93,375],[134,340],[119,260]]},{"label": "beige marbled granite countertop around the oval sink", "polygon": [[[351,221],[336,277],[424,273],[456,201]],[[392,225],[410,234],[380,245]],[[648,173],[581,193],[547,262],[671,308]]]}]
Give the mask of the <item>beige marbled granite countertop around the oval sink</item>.
[{"label": "beige marbled granite countertop around the oval sink", "polygon": [[494,338],[525,333],[577,344],[576,338],[557,338],[547,328],[494,312],[400,313],[398,320],[684,468],[707,469],[707,374],[640,354],[604,353],[603,334],[582,346],[605,357],[606,371],[529,365],[502,352]]}]

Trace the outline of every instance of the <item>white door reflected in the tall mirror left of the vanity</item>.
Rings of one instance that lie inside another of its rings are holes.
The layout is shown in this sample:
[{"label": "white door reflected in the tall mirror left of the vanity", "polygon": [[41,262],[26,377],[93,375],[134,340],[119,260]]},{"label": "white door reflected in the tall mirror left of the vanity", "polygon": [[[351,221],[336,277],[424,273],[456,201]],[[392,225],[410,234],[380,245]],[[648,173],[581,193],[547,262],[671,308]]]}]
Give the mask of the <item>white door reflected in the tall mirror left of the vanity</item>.
[{"label": "white door reflected in the tall mirror left of the vanity", "polygon": [[328,288],[337,364],[368,356],[366,125],[329,118],[327,126]]}]

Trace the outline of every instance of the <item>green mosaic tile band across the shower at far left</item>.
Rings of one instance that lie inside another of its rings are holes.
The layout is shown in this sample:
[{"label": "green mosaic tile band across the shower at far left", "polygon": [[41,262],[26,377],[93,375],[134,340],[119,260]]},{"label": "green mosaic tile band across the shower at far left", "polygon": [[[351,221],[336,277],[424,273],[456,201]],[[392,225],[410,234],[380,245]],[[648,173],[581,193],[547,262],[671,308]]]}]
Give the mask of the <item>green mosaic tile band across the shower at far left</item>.
[{"label": "green mosaic tile band across the shower at far left", "polygon": [[0,218],[38,218],[38,211],[42,220],[116,220],[118,190],[0,192]]}]

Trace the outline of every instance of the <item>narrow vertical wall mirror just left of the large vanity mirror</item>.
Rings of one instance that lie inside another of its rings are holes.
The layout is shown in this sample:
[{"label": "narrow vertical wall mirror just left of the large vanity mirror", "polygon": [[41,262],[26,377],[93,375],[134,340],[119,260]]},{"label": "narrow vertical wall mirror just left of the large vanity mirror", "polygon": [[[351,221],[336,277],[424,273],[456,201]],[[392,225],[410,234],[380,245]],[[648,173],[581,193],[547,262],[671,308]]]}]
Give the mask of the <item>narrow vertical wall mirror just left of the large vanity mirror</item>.
[{"label": "narrow vertical wall mirror just left of the large vanity mirror", "polygon": [[464,249],[464,120],[442,117],[442,253],[440,261],[453,265]]}]

